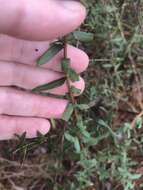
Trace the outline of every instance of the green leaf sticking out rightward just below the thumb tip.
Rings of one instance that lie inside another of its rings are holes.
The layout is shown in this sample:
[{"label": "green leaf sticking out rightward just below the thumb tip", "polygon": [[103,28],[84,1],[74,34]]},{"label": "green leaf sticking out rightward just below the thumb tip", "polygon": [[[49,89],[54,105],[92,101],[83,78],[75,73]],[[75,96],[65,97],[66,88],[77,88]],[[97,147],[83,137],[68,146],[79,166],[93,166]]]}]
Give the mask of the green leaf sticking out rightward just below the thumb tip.
[{"label": "green leaf sticking out rightward just below the thumb tip", "polygon": [[81,42],[91,42],[94,40],[93,33],[89,32],[75,31],[73,35],[76,40],[79,40]]}]

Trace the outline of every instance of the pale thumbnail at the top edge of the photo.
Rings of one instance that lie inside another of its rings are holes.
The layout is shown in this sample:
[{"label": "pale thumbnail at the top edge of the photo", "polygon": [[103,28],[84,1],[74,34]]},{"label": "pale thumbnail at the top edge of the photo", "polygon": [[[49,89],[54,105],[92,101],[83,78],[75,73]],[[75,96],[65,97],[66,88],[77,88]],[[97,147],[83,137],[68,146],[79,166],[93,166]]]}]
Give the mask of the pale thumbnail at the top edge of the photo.
[{"label": "pale thumbnail at the top edge of the photo", "polygon": [[79,11],[83,9],[83,5],[78,0],[63,0],[62,4],[70,11]]}]

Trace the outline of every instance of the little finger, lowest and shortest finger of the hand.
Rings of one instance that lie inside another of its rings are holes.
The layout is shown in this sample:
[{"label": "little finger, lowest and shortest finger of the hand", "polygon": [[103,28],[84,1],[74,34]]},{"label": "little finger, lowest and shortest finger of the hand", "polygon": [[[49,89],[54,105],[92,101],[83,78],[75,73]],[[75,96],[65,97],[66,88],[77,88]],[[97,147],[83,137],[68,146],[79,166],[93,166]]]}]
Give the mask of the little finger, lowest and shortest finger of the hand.
[{"label": "little finger, lowest and shortest finger of the hand", "polygon": [[0,115],[0,140],[16,139],[26,133],[26,138],[37,137],[37,132],[45,135],[50,130],[50,122],[43,118]]}]

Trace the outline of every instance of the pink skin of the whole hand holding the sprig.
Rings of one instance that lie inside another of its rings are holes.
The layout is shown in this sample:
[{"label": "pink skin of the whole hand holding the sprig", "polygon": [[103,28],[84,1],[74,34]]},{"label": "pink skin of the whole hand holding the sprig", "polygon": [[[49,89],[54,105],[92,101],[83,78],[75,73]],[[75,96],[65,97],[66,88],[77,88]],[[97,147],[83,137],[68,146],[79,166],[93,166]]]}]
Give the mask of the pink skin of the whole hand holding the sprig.
[{"label": "pink skin of the whole hand holding the sprig", "polygon": [[[48,118],[61,118],[68,104],[26,91],[63,77],[63,50],[44,66],[37,67],[36,60],[52,40],[74,31],[86,11],[70,0],[0,0],[0,4],[0,140],[25,131],[27,138],[33,138],[37,131],[46,134]],[[69,45],[68,57],[78,73],[86,70],[89,60],[83,51]],[[81,91],[85,87],[82,78],[73,85]],[[64,84],[49,92],[67,91]]]}]

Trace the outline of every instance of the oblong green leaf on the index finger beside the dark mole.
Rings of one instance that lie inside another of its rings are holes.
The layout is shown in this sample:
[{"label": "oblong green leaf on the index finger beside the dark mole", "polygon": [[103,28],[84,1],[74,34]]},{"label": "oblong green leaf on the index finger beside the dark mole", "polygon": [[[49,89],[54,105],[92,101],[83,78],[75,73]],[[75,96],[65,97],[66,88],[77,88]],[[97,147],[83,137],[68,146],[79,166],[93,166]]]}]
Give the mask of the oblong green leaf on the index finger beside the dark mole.
[{"label": "oblong green leaf on the index finger beside the dark mole", "polygon": [[62,44],[53,44],[51,47],[38,59],[37,65],[43,65],[49,62],[63,48]]}]

